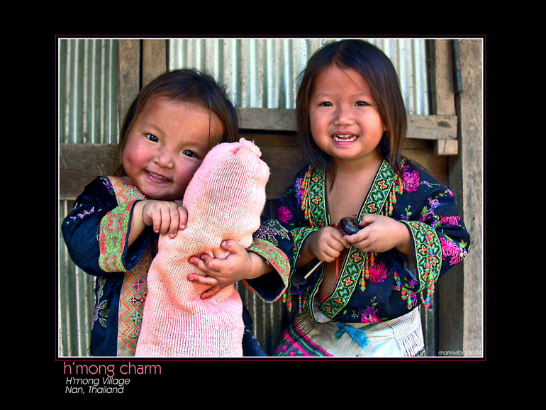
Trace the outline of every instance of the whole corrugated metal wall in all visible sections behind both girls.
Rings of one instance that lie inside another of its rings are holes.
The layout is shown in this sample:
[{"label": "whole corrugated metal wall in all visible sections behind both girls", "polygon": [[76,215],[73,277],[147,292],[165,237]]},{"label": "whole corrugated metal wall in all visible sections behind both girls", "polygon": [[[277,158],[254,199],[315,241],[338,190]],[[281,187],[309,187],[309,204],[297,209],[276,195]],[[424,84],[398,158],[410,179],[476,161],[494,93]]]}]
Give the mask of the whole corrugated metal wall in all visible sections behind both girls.
[{"label": "whole corrugated metal wall in all visible sections behind both girls", "polygon": [[[240,38],[171,39],[170,69],[193,67],[211,72],[225,84],[235,106],[293,109],[296,78],[308,57],[333,39]],[[423,39],[369,39],[384,50],[399,72],[406,108],[427,115],[428,89]],[[59,40],[60,143],[118,142],[118,49],[115,39]],[[62,221],[72,201],[61,201]],[[60,356],[89,355],[89,329],[94,314],[94,277],[70,260],[59,233]],[[269,332],[286,319],[280,302],[262,302],[239,287],[255,321],[255,336],[270,351]]]}]

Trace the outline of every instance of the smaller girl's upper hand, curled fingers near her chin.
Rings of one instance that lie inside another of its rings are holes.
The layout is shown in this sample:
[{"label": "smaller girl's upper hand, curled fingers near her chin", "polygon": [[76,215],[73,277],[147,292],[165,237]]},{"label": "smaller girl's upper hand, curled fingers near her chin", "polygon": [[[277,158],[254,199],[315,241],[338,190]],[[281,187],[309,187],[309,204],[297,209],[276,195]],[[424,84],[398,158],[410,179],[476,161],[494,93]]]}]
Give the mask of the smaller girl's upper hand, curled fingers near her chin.
[{"label": "smaller girl's upper hand, curled fingers near her chin", "polygon": [[180,229],[186,228],[188,211],[170,201],[141,201],[142,219],[146,226],[153,226],[155,233],[169,234],[170,238],[177,236]]}]

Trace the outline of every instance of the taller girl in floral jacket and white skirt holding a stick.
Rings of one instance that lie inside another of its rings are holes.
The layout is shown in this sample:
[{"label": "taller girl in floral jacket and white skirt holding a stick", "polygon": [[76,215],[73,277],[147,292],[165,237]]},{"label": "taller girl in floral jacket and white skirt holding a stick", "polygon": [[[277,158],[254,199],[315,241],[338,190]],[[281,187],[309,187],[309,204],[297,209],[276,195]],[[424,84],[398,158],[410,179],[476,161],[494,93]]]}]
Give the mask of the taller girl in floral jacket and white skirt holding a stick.
[{"label": "taller girl in floral jacket and white skirt holding a stick", "polygon": [[[469,234],[452,192],[401,157],[406,110],[391,61],[362,40],[325,45],[303,72],[296,121],[310,165],[277,218],[295,242],[287,299],[299,313],[277,355],[423,355],[417,308],[467,254]],[[346,217],[360,231],[343,232]]]}]

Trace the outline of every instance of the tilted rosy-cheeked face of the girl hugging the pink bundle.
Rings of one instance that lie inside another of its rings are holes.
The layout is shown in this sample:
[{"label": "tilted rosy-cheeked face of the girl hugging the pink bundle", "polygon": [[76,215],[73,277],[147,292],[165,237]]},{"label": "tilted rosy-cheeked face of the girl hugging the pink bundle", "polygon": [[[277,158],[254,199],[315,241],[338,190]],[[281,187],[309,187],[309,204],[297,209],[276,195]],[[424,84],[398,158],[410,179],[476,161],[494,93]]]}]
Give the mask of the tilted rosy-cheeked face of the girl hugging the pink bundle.
[{"label": "tilted rosy-cheeked face of the girl hugging the pink bundle", "polygon": [[123,168],[147,198],[182,199],[222,134],[221,121],[201,105],[150,96],[129,130]]}]

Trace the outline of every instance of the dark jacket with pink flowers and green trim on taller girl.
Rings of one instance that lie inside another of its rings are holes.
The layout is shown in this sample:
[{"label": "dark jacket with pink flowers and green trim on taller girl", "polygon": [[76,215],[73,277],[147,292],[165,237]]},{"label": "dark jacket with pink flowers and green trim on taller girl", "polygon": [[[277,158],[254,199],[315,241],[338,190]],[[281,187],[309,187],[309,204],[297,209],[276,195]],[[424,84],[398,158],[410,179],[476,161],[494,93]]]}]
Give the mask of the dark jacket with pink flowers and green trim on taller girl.
[{"label": "dark jacket with pink flowers and green trim on taller girl", "polygon": [[[292,275],[301,275],[300,270],[308,272],[318,262],[296,267],[308,236],[338,222],[330,221],[325,189],[325,170],[304,167],[277,209],[277,219],[294,237]],[[317,296],[325,273],[323,264],[304,284],[291,284],[286,298],[289,309],[295,304],[316,321],[369,323],[397,318],[421,303],[430,306],[438,277],[461,262],[469,250],[469,233],[455,197],[411,162],[404,160],[400,179],[384,161],[358,220],[364,214],[387,214],[390,206],[391,218],[404,223],[411,232],[415,265],[410,266],[408,258],[396,249],[371,257],[351,247],[340,261],[338,282],[330,297],[319,301]]]}]

